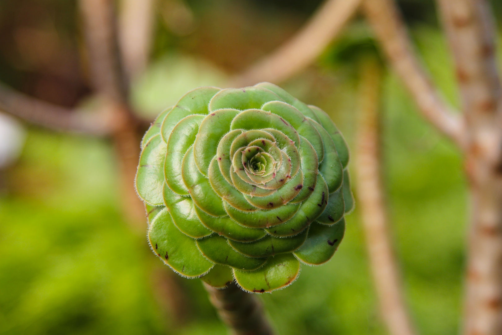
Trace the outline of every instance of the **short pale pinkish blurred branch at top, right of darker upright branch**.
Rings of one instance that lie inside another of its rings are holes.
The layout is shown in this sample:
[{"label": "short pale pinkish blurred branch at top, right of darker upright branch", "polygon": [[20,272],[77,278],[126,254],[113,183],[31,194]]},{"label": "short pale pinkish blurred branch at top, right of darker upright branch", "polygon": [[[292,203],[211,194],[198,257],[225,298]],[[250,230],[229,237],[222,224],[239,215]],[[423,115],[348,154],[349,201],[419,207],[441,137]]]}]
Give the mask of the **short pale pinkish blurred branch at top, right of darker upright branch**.
[{"label": "short pale pinkish blurred branch at top, right of darker upright branch", "polygon": [[121,0],[118,40],[129,82],[141,74],[148,63],[154,2],[155,0]]}]

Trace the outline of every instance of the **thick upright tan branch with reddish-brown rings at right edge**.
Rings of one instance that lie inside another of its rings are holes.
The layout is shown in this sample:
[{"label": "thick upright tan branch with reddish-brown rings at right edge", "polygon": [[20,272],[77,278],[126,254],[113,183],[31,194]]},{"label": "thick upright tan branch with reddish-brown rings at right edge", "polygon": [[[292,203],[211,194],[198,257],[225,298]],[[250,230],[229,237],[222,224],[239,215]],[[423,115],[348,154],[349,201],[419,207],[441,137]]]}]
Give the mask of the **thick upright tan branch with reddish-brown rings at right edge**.
[{"label": "thick upright tan branch with reddish-brown rings at right edge", "polygon": [[439,1],[466,119],[472,201],[464,333],[502,333],[502,104],[493,18],[484,0]]}]

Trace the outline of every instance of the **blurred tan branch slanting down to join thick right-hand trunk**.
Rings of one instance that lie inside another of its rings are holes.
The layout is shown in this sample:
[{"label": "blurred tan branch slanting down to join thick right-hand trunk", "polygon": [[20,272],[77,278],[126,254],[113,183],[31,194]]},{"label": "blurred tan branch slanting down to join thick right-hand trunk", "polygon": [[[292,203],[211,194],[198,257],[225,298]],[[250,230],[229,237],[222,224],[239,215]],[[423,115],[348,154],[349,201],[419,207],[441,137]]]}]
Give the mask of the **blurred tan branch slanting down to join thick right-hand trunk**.
[{"label": "blurred tan branch slanting down to join thick right-hand trunk", "polygon": [[462,119],[451,110],[422,68],[393,0],[363,0],[362,8],[385,54],[429,122],[463,148]]}]

